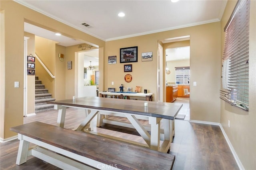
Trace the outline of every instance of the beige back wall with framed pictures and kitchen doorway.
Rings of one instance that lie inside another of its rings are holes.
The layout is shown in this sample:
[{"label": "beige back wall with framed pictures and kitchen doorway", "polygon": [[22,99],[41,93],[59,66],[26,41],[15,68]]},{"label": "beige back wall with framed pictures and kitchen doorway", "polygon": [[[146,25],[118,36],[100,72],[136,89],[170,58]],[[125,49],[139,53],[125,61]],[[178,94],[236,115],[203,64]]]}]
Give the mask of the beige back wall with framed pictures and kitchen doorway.
[{"label": "beige back wall with framed pictures and kitchen doorway", "polygon": [[[220,22],[107,41],[105,90],[110,87],[119,90],[120,84],[133,89],[142,86],[142,90],[148,89],[148,92],[154,93],[153,100],[156,101],[157,42],[185,35],[190,35],[190,81],[197,82],[197,86],[190,87],[190,119],[220,122]],[[124,64],[127,63],[120,63],[120,48],[134,46],[138,46],[138,62],[129,63],[132,64],[132,72],[129,73],[133,79],[132,82],[126,83],[126,72],[123,70]],[[153,52],[153,61],[142,62],[141,53],[148,51]],[[117,64],[108,64],[107,57],[113,55],[117,56]],[[163,71],[164,69],[165,59]],[[111,85],[111,82],[114,82],[114,85]]]}]

